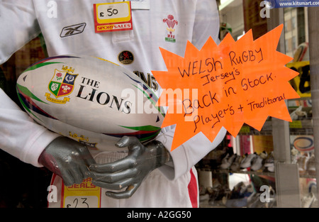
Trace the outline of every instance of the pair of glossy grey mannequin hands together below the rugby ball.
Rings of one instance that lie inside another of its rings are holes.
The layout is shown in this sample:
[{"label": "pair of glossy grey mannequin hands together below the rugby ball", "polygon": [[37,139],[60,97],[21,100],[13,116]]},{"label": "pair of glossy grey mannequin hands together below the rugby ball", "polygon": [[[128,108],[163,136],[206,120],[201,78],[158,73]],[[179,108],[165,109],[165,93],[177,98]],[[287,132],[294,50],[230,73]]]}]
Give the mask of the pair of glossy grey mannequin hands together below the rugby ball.
[{"label": "pair of glossy grey mannequin hands together below the rugby ball", "polygon": [[66,186],[80,184],[87,177],[98,187],[124,192],[106,192],[115,199],[129,198],[152,170],[172,161],[164,145],[153,140],[142,145],[135,137],[124,136],[116,143],[128,148],[128,156],[116,162],[96,164],[85,145],[69,138],[58,137],[39,157],[39,162],[63,178]]}]

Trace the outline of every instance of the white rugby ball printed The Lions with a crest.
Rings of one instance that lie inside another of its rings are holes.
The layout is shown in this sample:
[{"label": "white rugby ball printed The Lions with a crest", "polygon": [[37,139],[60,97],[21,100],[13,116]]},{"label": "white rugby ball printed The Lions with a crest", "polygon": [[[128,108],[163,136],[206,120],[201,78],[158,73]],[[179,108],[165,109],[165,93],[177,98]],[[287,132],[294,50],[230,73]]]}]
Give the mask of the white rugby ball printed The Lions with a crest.
[{"label": "white rugby ball printed The Lions with a crest", "polygon": [[124,135],[152,140],[164,119],[147,84],[98,57],[48,57],[28,67],[16,89],[36,122],[94,150],[116,150]]}]

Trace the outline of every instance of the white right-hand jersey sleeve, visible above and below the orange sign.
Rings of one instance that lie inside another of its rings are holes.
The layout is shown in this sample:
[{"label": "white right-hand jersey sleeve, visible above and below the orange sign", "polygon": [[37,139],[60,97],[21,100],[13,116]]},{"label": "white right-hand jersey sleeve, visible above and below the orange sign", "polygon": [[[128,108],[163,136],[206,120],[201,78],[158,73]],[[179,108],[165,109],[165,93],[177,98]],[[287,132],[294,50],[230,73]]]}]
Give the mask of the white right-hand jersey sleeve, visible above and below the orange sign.
[{"label": "white right-hand jersey sleeve, visible above and below the orange sign", "polygon": [[[196,16],[194,21],[192,44],[200,50],[211,36],[216,44],[220,43],[219,13],[216,1],[198,0],[196,4]],[[172,147],[174,126],[164,128],[157,140],[162,142],[167,150]],[[198,133],[180,147],[170,152],[173,162],[159,168],[168,179],[177,179],[182,174],[189,172],[208,152],[215,149],[225,138],[225,128],[222,128],[215,140],[211,142],[203,133]]]}]

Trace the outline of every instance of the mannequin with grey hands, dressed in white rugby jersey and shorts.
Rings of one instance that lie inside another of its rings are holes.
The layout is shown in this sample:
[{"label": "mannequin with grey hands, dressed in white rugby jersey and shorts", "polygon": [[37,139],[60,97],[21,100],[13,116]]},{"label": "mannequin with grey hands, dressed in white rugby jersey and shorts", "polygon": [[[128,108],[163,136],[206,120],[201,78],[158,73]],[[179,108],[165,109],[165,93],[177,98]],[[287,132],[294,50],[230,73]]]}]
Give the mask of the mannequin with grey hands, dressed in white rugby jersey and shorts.
[{"label": "mannequin with grey hands, dressed in white rugby jersey and shorts", "polygon": [[[49,2],[56,4],[47,5]],[[137,2],[131,1],[131,4]],[[159,47],[182,56],[187,41],[198,49],[209,36],[219,43],[218,7],[216,1],[211,0],[145,2],[150,3],[149,9],[134,7],[131,10],[133,30],[95,33],[93,9],[100,1],[3,0],[0,39],[5,44],[0,50],[0,63],[42,33],[49,57],[69,54],[101,57],[145,77],[144,82],[159,96],[160,86],[152,76],[152,70],[166,70]],[[50,12],[55,9],[57,15],[52,16]],[[173,17],[178,24],[174,26],[174,36],[167,38],[167,28],[172,30],[172,27],[163,20]],[[77,30],[79,24],[85,24],[82,31]],[[65,28],[74,28],[74,33],[67,35]],[[133,60],[121,60],[119,55],[123,52],[130,52]],[[226,133],[225,128],[220,130],[213,142],[198,133],[171,151],[175,126],[167,126],[162,128],[156,141],[141,144],[136,138],[122,138],[118,150],[114,147],[95,150],[34,123],[1,90],[0,101],[1,149],[54,173],[51,185],[57,188],[57,201],[49,201],[48,207],[67,206],[67,201],[75,196],[75,192],[65,192],[69,185],[79,184],[88,177],[98,187],[99,194],[91,195],[84,186],[84,190],[76,191],[76,196],[89,196],[90,206],[198,207],[194,165],[216,148]]]}]

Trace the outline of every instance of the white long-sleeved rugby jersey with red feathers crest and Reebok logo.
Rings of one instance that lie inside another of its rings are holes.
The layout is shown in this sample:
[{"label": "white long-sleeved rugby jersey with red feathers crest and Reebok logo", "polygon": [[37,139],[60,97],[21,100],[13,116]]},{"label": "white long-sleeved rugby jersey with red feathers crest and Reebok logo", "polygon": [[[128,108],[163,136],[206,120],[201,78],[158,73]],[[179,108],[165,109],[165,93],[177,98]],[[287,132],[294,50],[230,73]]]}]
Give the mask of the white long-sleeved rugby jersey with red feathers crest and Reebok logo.
[{"label": "white long-sleeved rugby jersey with red feathers crest and Reebok logo", "polygon": [[[102,57],[140,76],[159,93],[151,70],[165,71],[164,48],[184,57],[187,40],[200,49],[211,36],[217,43],[219,18],[212,0],[151,0],[149,9],[132,4],[133,30],[96,33],[94,4],[106,0],[2,0],[0,5],[0,64],[29,40],[43,33],[49,56],[79,54]],[[40,167],[38,157],[57,134],[34,123],[0,90],[0,148],[23,162]],[[211,143],[202,133],[171,152],[174,167],[161,167],[174,179],[216,148],[223,128]],[[170,150],[174,127],[157,137]]]}]

